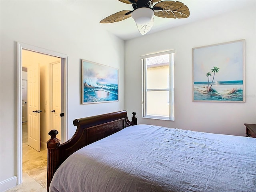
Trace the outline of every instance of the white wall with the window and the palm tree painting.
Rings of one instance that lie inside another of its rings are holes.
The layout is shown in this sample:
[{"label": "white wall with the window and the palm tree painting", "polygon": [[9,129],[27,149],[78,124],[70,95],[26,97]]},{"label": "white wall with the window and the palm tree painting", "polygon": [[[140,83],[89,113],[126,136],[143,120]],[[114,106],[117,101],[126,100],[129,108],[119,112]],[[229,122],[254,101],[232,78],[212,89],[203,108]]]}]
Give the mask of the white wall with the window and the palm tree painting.
[{"label": "white wall with the window and the palm tree painting", "polygon": [[[154,27],[154,26],[153,26]],[[230,12],[125,43],[125,106],[138,124],[245,136],[256,123],[256,10]],[[245,39],[245,103],[192,102],[192,48]],[[142,118],[140,56],[166,50],[175,54],[175,121]]]}]

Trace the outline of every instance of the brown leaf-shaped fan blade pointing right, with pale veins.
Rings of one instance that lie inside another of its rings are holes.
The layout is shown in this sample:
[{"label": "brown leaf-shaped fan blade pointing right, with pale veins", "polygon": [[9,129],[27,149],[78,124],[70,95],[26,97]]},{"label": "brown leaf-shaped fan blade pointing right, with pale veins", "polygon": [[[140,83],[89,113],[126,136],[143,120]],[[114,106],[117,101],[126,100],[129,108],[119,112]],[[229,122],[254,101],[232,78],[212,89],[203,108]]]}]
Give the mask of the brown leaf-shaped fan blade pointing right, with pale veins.
[{"label": "brown leaf-shaped fan blade pointing right, with pale veins", "polygon": [[187,18],[189,9],[184,3],[179,1],[161,1],[153,7],[154,15],[163,18]]}]

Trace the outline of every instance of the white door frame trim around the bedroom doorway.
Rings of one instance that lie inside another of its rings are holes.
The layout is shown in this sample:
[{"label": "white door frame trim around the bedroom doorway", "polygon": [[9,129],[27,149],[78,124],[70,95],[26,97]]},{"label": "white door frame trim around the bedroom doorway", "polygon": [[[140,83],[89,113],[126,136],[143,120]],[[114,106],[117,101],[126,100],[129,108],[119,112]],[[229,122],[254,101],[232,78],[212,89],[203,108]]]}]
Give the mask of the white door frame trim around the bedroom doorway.
[{"label": "white door frame trim around the bedroom doorway", "polygon": [[22,49],[64,59],[64,142],[68,133],[68,55],[17,42],[17,185],[22,183]]}]

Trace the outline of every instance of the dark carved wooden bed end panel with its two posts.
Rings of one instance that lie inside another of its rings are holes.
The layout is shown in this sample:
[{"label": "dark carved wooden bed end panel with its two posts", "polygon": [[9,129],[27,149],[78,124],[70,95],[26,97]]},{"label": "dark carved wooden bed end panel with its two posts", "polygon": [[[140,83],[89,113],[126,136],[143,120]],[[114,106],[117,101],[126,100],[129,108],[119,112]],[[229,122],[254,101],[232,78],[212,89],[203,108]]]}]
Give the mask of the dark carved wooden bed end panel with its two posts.
[{"label": "dark carved wooden bed end panel with its two posts", "polygon": [[47,192],[54,173],[66,158],[88,144],[114,134],[125,127],[136,125],[136,112],[132,114],[132,121],[128,120],[126,110],[75,119],[73,124],[77,126],[76,132],[70,140],[63,144],[60,144],[60,140],[56,138],[58,131],[51,130],[49,132],[51,138],[47,142]]}]

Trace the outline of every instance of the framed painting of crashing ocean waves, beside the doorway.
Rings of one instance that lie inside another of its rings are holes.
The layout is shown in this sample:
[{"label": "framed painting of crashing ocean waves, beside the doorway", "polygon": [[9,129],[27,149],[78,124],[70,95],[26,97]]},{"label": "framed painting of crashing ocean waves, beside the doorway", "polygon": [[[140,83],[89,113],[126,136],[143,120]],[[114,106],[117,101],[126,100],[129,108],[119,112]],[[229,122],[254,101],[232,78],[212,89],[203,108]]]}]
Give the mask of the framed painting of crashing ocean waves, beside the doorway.
[{"label": "framed painting of crashing ocean waves, beside the doorway", "polygon": [[118,69],[82,60],[82,104],[118,101]]}]

